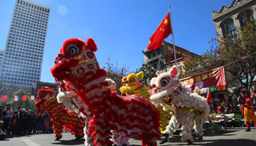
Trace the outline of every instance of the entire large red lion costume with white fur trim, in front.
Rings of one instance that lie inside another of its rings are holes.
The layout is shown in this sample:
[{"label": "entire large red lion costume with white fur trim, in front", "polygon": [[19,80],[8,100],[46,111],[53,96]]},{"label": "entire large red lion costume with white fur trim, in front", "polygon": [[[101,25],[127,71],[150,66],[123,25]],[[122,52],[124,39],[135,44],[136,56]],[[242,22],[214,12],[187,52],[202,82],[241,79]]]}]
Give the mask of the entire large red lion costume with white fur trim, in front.
[{"label": "entire large red lion costume with white fur trim, in front", "polygon": [[[50,69],[63,89],[63,104],[86,117],[85,145],[113,144],[111,130],[142,138],[143,146],[155,146],[159,131],[159,113],[150,100],[135,95],[120,97],[111,93],[105,81],[106,71],[95,57],[97,46],[92,38],[66,40]],[[68,97],[68,99],[66,99]],[[124,144],[128,145],[128,141]]]}]

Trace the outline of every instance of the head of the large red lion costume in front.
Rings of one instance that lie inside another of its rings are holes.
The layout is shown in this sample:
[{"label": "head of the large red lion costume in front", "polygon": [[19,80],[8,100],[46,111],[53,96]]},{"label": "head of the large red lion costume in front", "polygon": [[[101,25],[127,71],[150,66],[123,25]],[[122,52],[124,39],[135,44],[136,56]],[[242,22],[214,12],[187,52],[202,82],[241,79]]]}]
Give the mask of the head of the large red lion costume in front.
[{"label": "head of the large red lion costume in front", "polygon": [[92,38],[88,38],[87,42],[79,38],[66,40],[55,58],[54,67],[50,68],[57,83],[69,90],[70,84],[80,86],[91,76],[106,75],[105,71],[99,69],[94,53],[96,50],[97,46]]}]

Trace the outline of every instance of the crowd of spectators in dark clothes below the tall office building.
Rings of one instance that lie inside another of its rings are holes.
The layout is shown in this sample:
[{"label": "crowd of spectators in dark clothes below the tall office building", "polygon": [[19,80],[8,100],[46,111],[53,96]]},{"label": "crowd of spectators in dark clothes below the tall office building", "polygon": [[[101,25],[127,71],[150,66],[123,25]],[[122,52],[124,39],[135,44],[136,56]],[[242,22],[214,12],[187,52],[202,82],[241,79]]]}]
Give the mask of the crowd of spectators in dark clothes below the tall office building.
[{"label": "crowd of spectators in dark clothes below the tall office building", "polygon": [[0,141],[6,137],[22,137],[35,133],[53,133],[50,116],[36,115],[32,110],[18,106],[0,105]]}]

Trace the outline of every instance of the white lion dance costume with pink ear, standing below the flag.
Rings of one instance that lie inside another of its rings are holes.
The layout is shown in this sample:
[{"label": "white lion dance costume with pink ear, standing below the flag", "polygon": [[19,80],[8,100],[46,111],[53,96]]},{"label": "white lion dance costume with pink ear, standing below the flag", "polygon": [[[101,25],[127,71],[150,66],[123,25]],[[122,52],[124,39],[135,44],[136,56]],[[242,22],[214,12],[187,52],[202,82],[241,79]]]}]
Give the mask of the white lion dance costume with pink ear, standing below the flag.
[{"label": "white lion dance costume with pink ear, standing below the flag", "polygon": [[[210,113],[210,107],[204,97],[197,93],[191,93],[191,90],[178,82],[180,70],[176,66],[169,72],[161,73],[157,78],[150,81],[150,92],[153,94],[150,100],[159,104],[174,104],[174,115],[169,121],[164,133],[173,135],[176,129],[182,125],[181,141],[193,143],[191,128],[194,126],[195,135],[202,139],[202,125]],[[167,101],[166,101],[167,100]]]}]

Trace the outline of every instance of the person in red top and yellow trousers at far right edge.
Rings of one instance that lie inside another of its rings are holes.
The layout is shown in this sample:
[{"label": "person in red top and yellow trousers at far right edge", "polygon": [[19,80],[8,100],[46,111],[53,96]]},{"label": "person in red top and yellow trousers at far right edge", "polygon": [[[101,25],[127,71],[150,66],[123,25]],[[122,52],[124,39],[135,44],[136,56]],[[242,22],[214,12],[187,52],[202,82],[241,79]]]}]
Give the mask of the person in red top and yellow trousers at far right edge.
[{"label": "person in red top and yellow trousers at far right edge", "polygon": [[254,126],[256,127],[256,118],[254,115],[254,108],[250,100],[250,97],[247,95],[247,92],[243,90],[241,94],[242,94],[242,97],[245,99],[243,115],[244,115],[244,122],[246,122],[246,125],[247,125],[246,131],[250,131],[250,121],[254,122]]}]

